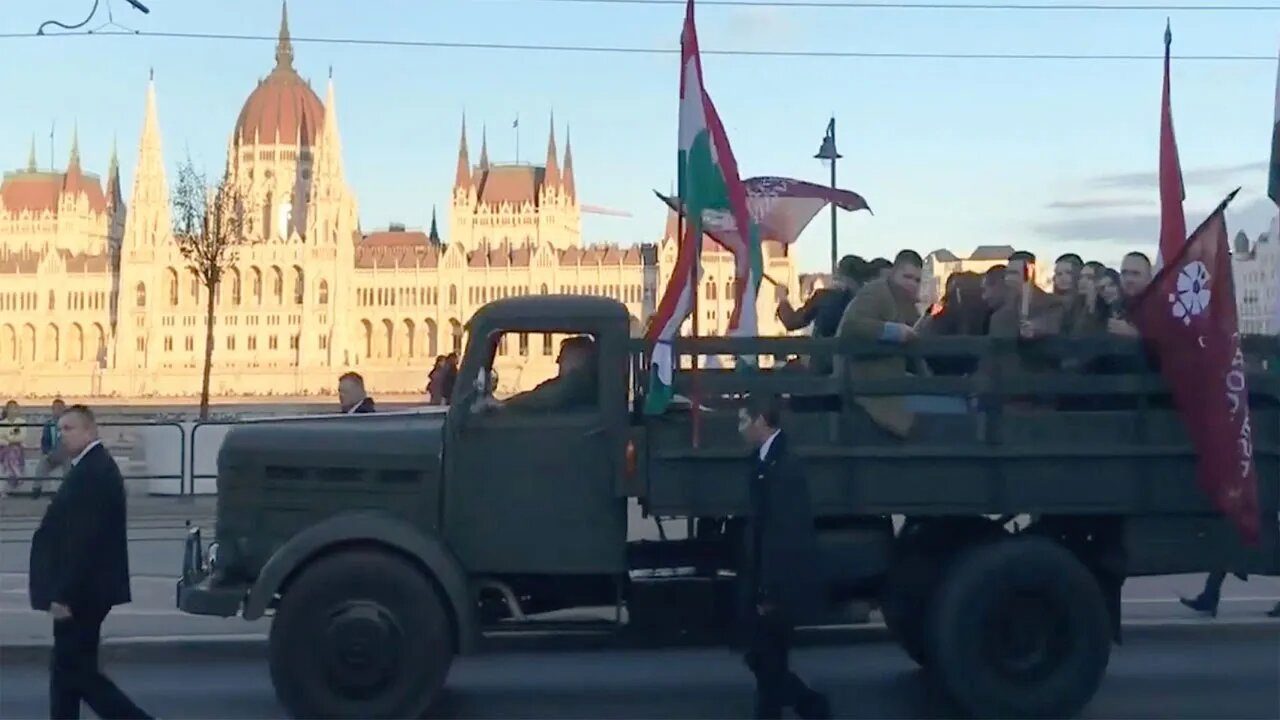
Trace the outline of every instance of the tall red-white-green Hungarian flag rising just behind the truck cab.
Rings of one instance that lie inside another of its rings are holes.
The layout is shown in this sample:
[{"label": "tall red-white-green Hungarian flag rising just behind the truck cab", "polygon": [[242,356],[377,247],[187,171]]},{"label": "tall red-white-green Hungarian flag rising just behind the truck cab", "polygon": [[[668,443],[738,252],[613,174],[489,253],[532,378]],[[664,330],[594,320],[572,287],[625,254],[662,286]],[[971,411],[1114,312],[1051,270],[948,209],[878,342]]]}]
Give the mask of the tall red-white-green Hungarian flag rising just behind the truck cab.
[{"label": "tall red-white-green Hungarian flag rising just behind the truck cab", "polygon": [[680,152],[676,177],[678,195],[686,208],[686,222],[676,268],[645,333],[650,348],[645,411],[652,414],[662,413],[673,395],[675,357],[671,345],[694,307],[694,293],[701,277],[699,264],[703,218],[727,215],[732,218],[735,228],[749,228],[745,233],[737,233],[740,246],[731,247],[737,259],[739,296],[730,320],[731,334],[755,334],[755,296],[763,274],[760,240],[748,211],[746,190],[739,179],[737,163],[724,135],[724,126],[703,86],[694,0],[689,0],[685,9],[680,46]]}]

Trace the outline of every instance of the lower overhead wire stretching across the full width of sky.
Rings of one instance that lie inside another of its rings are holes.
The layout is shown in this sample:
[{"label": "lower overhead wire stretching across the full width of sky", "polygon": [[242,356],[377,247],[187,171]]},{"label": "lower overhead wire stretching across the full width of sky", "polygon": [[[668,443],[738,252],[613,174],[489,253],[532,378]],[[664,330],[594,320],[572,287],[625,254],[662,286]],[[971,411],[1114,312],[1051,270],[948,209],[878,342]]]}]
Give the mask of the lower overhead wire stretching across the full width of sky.
[{"label": "lower overhead wire stretching across the full width of sky", "polygon": [[[131,37],[156,40],[200,40],[200,41],[243,41],[276,42],[275,35],[236,35],[215,32],[63,32],[52,35],[4,33],[0,40],[51,40],[87,37]],[[614,54],[614,55],[675,55],[678,49],[639,47],[625,45],[540,45],[516,42],[454,42],[445,40],[390,40],[364,37],[300,37],[291,38],[294,44],[347,45],[364,47],[412,47],[428,50],[492,50],[502,53],[575,53],[575,54]],[[831,58],[831,59],[886,59],[886,60],[995,60],[1030,61],[1062,60],[1080,63],[1103,61],[1146,61],[1162,60],[1164,55],[1146,54],[1076,54],[1076,53],[914,53],[914,51],[856,51],[856,50],[714,50],[704,49],[703,55],[724,55],[737,58]],[[1215,63],[1275,63],[1275,55],[1179,55],[1179,61]]]}]

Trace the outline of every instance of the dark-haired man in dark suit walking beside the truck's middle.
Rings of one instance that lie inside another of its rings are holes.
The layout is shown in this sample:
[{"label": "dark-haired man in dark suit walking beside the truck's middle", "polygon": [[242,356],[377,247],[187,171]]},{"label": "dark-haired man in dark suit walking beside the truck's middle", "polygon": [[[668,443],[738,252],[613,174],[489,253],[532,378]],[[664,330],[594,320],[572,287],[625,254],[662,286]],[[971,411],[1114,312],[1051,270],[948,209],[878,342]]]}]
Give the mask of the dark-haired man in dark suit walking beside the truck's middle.
[{"label": "dark-haired man in dark suit walking beside the truck's middle", "polygon": [[742,611],[746,665],[755,674],[755,716],[831,717],[827,698],[791,671],[796,624],[815,619],[826,605],[809,486],[787,451],[781,429],[782,401],[753,397],[739,411],[739,430],[753,454],[750,515],[744,537]]}]

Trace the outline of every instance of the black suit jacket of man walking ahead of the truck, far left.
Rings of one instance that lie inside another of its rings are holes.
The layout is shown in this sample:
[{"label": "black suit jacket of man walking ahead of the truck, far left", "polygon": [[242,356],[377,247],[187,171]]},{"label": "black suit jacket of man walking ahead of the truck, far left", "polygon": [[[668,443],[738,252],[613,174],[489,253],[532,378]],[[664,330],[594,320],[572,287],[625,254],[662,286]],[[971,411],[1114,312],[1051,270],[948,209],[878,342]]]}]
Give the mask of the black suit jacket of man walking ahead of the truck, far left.
[{"label": "black suit jacket of man walking ahead of the truck, far left", "polygon": [[101,445],[67,471],[31,538],[31,607],[105,610],[132,600],[124,478]]}]

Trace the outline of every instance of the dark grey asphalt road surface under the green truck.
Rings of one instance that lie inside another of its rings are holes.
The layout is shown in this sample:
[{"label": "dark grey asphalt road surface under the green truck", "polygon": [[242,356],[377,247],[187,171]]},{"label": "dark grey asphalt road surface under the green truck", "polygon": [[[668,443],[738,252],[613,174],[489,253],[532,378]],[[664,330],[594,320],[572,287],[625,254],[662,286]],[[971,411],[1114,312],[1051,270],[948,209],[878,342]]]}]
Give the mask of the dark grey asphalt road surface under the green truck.
[{"label": "dark grey asphalt road surface under the green truck", "polygon": [[[887,643],[805,648],[795,665],[840,717],[951,717],[951,708]],[[116,664],[113,678],[150,712],[189,719],[282,717],[261,660]],[[750,676],[723,650],[509,653],[460,660],[433,715],[442,717],[746,717]],[[0,719],[47,712],[46,673],[5,667]],[[1146,630],[1112,653],[1084,717],[1280,717],[1280,632]]]}]

